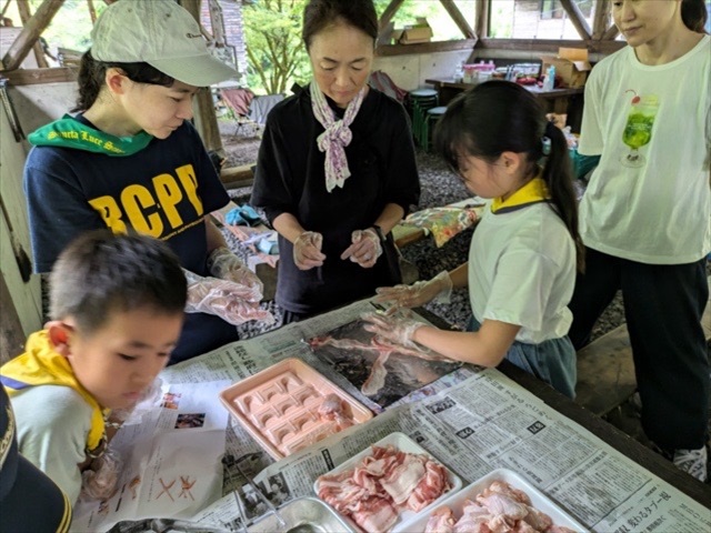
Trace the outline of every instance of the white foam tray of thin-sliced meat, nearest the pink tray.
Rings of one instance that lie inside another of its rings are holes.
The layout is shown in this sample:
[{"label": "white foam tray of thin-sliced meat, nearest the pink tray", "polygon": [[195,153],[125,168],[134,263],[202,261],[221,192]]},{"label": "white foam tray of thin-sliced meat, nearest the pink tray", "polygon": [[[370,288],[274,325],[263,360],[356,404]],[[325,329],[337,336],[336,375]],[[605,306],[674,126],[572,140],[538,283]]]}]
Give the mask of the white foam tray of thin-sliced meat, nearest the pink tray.
[{"label": "white foam tray of thin-sliced meat, nearest the pink tray", "polygon": [[[404,433],[399,433],[399,432],[390,433],[388,436],[381,439],[380,441],[375,442],[372,445],[385,447],[388,444],[392,444],[395,449],[402,452],[429,455],[434,461],[442,464],[441,461],[439,461],[434,455],[429,453],[427,450],[424,450],[422,446],[420,446],[417,442],[414,442]],[[338,474],[340,472],[343,472],[344,470],[354,469],[356,465],[358,465],[358,463],[360,463],[363,460],[363,457],[367,457],[369,455],[372,455],[371,446],[368,446],[362,452],[358,453],[357,455],[353,455],[351,459],[349,459],[344,463],[340,464],[336,469],[328,472],[327,475]],[[442,464],[442,466],[444,465]],[[449,484],[451,485],[451,489],[444,492],[440,497],[434,500],[432,503],[430,503],[427,507],[424,507],[422,511],[418,513],[409,510],[401,511],[398,521],[390,529],[391,533],[401,533],[401,532],[410,531],[409,524],[411,522],[417,521],[421,516],[429,516],[430,512],[435,506],[439,506],[444,499],[447,499],[450,494],[455,493],[462,487],[462,480],[457,474],[454,474],[451,470],[449,470],[447,466],[444,466],[444,470],[447,471],[447,477],[449,480]],[[318,496],[319,494],[318,480],[313,483],[313,492]],[[343,516],[340,513],[339,515],[342,516],[342,519],[353,529],[353,531],[358,531],[358,532],[363,531],[358,524],[356,524],[356,522],[350,520],[348,516]]]}]

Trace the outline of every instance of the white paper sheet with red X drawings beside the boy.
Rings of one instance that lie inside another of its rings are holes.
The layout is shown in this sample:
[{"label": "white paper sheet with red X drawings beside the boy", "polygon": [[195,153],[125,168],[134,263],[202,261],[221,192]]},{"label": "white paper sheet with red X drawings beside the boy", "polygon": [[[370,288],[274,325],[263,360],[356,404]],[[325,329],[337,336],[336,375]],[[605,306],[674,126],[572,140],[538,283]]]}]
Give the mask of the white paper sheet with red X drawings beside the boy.
[{"label": "white paper sheet with red X drawings beside the boy", "polygon": [[121,520],[192,517],[222,494],[228,414],[214,393],[229,381],[163,385],[161,400],[111,441],[124,464],[117,493],[74,506],[72,530],[107,531]]}]

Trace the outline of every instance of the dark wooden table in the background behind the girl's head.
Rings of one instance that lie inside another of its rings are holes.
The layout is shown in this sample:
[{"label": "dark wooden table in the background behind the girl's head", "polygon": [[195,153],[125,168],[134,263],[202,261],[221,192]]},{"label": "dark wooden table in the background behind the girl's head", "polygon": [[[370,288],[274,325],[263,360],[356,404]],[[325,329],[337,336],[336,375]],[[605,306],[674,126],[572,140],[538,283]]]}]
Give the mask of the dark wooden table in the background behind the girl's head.
[{"label": "dark wooden table in the background behind the girl's head", "polygon": [[[453,79],[432,78],[424,80],[437,89],[440,105],[447,105],[452,98],[462,91],[477,87],[475,83],[457,82]],[[538,99],[543,100],[542,104],[548,113],[567,113],[568,125],[572,131],[580,132],[582,121],[582,104],[584,88],[562,88],[544,91],[537,86],[522,86],[533,93]]]}]

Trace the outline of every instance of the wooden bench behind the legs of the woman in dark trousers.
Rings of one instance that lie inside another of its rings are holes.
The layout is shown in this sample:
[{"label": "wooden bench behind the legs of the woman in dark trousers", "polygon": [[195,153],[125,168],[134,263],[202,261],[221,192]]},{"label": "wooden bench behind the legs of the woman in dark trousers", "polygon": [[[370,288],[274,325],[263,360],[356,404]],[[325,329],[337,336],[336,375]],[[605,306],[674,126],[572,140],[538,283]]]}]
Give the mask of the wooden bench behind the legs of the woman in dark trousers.
[{"label": "wooden bench behind the legs of the woman in dark trousers", "polygon": [[[711,276],[708,279],[711,288]],[[711,298],[701,318],[707,342],[711,340]],[[575,403],[603,416],[637,391],[634,362],[627,325],[595,339],[578,352]]]}]

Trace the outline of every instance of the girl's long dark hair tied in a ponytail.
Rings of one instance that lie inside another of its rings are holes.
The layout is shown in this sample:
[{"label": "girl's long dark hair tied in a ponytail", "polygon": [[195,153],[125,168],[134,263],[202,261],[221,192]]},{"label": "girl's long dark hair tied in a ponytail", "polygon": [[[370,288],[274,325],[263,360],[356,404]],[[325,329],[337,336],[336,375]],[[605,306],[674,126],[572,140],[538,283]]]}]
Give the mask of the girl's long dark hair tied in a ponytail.
[{"label": "girl's long dark hair tied in a ponytail", "polygon": [[453,99],[434,130],[434,145],[450,168],[459,172],[459,157],[470,154],[494,162],[503,152],[527,154],[527,175],[534,177],[542,161],[543,141],[551,141],[544,159],[543,180],[559,217],[577,250],[579,271],[584,269],[584,247],[578,232],[578,203],[568,142],[563,132],[545,119],[543,108],[518,83],[492,80]]}]

